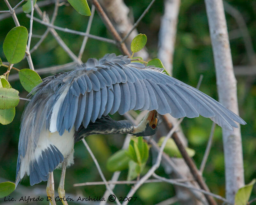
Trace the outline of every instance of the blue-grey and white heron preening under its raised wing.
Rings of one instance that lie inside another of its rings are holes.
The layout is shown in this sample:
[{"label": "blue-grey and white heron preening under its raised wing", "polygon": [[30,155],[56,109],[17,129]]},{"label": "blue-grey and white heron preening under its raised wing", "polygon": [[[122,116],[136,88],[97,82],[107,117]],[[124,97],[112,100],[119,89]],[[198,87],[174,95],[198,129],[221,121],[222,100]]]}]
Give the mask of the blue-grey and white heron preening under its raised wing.
[{"label": "blue-grey and white heron preening under its raised wing", "polygon": [[[171,76],[124,56],[107,54],[76,69],[49,76],[31,92],[21,120],[16,185],[27,174],[30,185],[47,181],[62,166],[60,198],[65,197],[66,167],[73,164],[74,143],[91,134],[155,134],[157,113],[175,118],[209,117],[227,130],[246,124],[219,102]],[[115,121],[108,114],[149,110],[142,122]]]}]

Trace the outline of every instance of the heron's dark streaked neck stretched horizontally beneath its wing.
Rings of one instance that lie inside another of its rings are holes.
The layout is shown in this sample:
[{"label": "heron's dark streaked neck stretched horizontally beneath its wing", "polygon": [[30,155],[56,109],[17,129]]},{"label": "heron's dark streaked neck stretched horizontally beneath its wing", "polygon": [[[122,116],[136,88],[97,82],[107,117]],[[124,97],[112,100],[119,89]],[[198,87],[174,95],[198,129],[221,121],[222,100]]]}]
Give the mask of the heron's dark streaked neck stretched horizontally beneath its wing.
[{"label": "heron's dark streaked neck stretched horizontally beneath its wing", "polygon": [[133,133],[134,126],[127,120],[116,121],[109,116],[103,116],[95,122],[90,122],[87,128],[83,124],[75,132],[75,142],[94,134],[128,134]]}]

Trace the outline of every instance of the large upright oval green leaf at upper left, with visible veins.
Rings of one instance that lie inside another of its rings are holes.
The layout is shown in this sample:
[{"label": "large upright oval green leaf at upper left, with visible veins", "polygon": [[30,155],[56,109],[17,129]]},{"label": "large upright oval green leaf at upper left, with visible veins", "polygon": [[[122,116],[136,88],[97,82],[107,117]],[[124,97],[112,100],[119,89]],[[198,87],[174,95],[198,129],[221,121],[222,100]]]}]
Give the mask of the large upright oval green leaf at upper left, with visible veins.
[{"label": "large upright oval green leaf at upper left, with visible veins", "polygon": [[26,51],[27,41],[27,28],[18,26],[9,31],[3,44],[4,55],[9,63],[19,63],[23,59]]}]

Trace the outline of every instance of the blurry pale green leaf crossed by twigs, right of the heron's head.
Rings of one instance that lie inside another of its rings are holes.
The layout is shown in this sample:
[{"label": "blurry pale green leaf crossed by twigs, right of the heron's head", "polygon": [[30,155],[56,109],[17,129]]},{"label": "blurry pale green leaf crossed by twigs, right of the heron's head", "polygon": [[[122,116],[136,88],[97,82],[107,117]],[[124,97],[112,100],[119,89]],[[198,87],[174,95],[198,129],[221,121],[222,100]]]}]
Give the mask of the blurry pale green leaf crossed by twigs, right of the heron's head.
[{"label": "blurry pale green leaf crossed by twigs, right of the heron's head", "polygon": [[[159,146],[162,145],[162,143],[164,141],[164,138],[165,137],[161,137],[159,139],[159,141],[157,143]],[[196,153],[195,150],[190,149],[188,147],[186,147],[185,149],[186,149],[186,151],[187,151],[187,153],[188,153],[188,155],[190,157],[193,157],[195,155],[195,153]],[[167,143],[166,143],[166,145],[164,147],[164,152],[166,154],[168,154],[170,157],[179,157],[179,158],[182,157],[182,155],[180,154],[180,151],[179,151],[177,145],[175,144],[175,142],[173,141],[172,138],[167,140]]]}]

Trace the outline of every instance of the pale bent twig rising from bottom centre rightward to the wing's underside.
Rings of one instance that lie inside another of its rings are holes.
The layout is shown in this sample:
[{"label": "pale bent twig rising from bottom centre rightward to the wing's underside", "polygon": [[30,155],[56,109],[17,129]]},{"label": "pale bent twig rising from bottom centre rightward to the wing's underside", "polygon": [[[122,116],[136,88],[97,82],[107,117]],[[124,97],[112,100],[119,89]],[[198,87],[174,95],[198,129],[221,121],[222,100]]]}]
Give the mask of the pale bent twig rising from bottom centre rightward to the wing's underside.
[{"label": "pale bent twig rising from bottom centre rightward to the wing's underside", "polygon": [[[164,138],[163,144],[161,145],[161,148],[159,150],[159,153],[156,158],[156,163],[148,170],[148,172],[132,187],[132,189],[127,194],[127,198],[132,197],[133,194],[140,188],[140,186],[156,171],[156,169],[160,166],[162,155],[164,151],[164,147],[167,143],[167,140],[172,136],[172,134],[175,132],[175,130],[178,128],[179,124],[182,122],[183,118],[180,118],[180,120],[173,126],[173,128],[169,131],[167,136]],[[127,205],[128,201],[124,201],[122,205]]]}]

